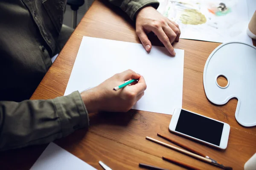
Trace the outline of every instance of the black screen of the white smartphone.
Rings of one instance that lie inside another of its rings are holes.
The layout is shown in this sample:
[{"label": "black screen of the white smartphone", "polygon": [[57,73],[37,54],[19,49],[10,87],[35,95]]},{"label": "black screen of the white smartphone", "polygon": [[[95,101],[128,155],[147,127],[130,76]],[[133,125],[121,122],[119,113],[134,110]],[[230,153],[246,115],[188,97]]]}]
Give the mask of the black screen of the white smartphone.
[{"label": "black screen of the white smartphone", "polygon": [[224,124],[181,109],[176,131],[220,146]]}]

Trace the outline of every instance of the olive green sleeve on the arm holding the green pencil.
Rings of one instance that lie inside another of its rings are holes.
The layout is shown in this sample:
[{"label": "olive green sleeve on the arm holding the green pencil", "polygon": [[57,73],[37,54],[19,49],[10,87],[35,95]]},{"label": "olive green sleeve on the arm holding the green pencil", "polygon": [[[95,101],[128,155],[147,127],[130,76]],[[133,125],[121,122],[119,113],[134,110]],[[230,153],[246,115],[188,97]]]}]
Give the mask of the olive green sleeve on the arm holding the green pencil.
[{"label": "olive green sleeve on the arm holding the green pencil", "polygon": [[0,101],[0,150],[49,143],[88,126],[78,91],[49,100]]}]

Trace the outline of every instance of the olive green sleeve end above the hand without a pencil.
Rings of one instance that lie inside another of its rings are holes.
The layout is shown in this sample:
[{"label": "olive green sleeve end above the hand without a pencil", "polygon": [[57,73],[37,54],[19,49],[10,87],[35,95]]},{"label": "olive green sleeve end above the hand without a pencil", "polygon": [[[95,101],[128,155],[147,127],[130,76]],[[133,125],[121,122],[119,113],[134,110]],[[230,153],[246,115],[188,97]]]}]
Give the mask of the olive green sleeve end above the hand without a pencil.
[{"label": "olive green sleeve end above the hand without a pencil", "polygon": [[126,14],[129,15],[131,20],[135,20],[137,12],[145,6],[151,5],[158,8],[159,2],[157,0],[108,0],[115,6],[120,7]]}]

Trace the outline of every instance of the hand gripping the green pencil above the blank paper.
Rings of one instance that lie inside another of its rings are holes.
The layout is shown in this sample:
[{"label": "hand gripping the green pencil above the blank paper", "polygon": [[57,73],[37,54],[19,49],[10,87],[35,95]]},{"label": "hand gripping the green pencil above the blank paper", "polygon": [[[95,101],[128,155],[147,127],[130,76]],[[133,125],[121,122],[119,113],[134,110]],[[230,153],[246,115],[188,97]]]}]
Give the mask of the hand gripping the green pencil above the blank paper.
[{"label": "hand gripping the green pencil above the blank paper", "polygon": [[[133,85],[114,91],[113,88],[129,79],[138,79]],[[143,76],[127,70],[105,80],[95,88],[81,93],[89,113],[99,111],[127,112],[144,95],[147,86]]]}]

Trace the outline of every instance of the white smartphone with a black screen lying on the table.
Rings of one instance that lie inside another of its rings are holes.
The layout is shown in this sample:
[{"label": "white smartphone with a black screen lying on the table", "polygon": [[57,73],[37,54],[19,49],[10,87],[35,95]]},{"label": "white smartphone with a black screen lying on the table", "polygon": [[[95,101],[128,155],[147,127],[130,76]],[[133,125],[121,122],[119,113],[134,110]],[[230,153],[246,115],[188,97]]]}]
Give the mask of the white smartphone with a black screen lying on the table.
[{"label": "white smartphone with a black screen lying on the table", "polygon": [[169,130],[205,144],[226,149],[230,125],[198,113],[175,108]]}]

